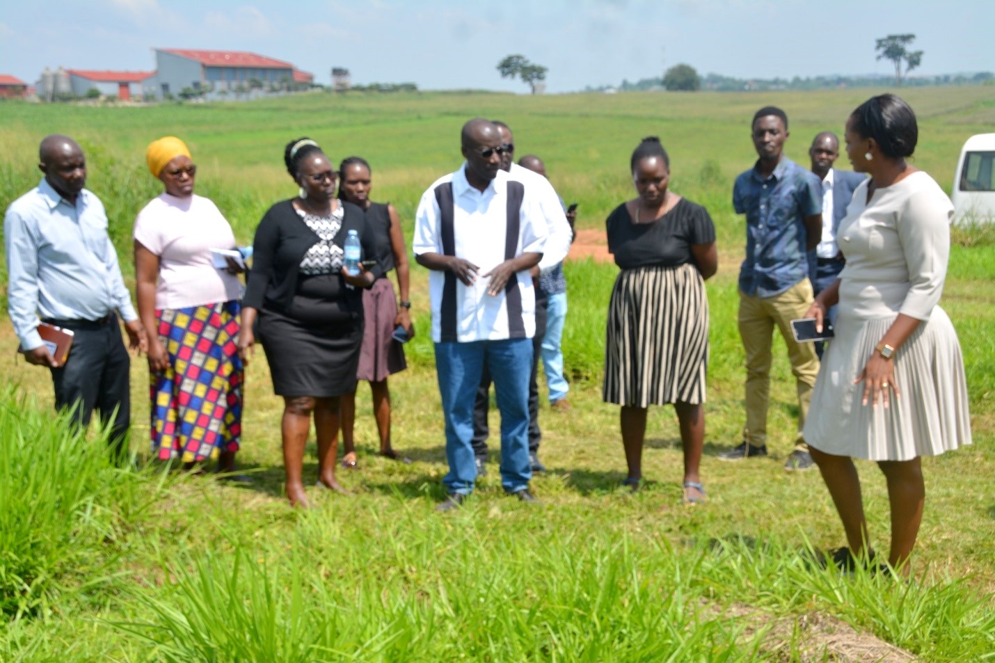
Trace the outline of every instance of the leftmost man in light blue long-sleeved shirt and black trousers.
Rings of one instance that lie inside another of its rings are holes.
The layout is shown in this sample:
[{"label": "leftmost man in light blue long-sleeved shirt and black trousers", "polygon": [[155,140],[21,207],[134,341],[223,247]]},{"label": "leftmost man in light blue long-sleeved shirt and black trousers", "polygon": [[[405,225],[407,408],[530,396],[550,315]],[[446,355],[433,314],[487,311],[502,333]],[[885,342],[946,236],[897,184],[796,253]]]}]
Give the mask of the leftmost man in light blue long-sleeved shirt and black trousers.
[{"label": "leftmost man in light blue long-sleeved shirt and black trousers", "polygon": [[[28,362],[51,369],[56,407],[72,410],[80,426],[90,423],[96,408],[111,424],[119,458],[126,451],[130,387],[114,312],[124,319],[131,349],[146,349],[145,331],[121,278],[103,205],[84,188],[87,161],[80,145],[50,135],[39,158],[45,178],[4,217],[10,320]],[[39,335],[39,318],[74,332],[63,365]]]}]

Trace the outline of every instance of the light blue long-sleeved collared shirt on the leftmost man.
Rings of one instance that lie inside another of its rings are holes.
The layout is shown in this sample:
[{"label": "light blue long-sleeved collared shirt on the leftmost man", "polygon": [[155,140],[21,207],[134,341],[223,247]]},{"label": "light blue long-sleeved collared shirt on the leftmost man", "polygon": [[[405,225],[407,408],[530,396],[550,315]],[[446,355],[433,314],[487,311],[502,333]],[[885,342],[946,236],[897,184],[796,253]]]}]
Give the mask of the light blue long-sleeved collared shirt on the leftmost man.
[{"label": "light blue long-sleeved collared shirt on the leftmost man", "polygon": [[100,320],[116,310],[137,320],[100,199],[84,189],[73,205],[47,180],[7,208],[7,305],[26,350],[42,345],[38,318]]}]

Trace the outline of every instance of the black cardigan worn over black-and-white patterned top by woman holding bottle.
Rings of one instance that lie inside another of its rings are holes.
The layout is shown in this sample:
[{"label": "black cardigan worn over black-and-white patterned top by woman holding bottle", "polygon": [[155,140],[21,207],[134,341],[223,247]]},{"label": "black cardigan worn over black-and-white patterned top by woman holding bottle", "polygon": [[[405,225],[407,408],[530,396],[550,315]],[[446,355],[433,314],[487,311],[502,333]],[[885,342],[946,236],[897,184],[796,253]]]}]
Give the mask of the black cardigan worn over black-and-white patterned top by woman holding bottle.
[{"label": "black cardigan worn over black-and-white patterned top by woman holding bottle", "polygon": [[[352,203],[342,200],[338,202],[342,205],[344,215],[342,226],[332,241],[344,247],[348,232],[355,230],[359,233],[364,259],[366,256],[375,256],[376,243],[372,233],[364,232],[363,210]],[[302,278],[299,275],[300,260],[319,241],[320,238],[298,215],[293,200],[283,200],[271,207],[256,228],[253,265],[242,306],[289,313]],[[369,271],[375,279],[383,276],[379,265],[373,266]],[[337,278],[344,282],[341,275]],[[344,287],[342,291],[345,291]]]}]

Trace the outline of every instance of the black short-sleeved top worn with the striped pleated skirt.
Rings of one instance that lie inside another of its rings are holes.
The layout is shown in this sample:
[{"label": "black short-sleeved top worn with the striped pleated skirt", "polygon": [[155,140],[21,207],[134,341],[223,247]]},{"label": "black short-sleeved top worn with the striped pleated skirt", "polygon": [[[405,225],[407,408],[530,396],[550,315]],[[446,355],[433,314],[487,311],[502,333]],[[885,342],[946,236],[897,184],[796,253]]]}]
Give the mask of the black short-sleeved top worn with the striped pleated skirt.
[{"label": "black short-sleeved top worn with the striped pleated skirt", "polygon": [[608,251],[621,269],[694,264],[693,244],[715,241],[715,226],[708,211],[686,198],[653,223],[635,223],[625,204],[605,221]]}]

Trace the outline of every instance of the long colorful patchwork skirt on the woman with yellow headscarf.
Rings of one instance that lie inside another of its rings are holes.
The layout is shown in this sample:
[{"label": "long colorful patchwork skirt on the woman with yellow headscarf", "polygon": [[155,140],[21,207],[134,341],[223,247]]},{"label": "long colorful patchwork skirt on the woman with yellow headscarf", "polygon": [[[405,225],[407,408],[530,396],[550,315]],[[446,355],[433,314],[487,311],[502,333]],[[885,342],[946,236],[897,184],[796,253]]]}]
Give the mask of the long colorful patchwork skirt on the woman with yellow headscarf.
[{"label": "long colorful patchwork skirt on the woman with yellow headscarf", "polygon": [[152,451],[185,463],[237,451],[242,383],[239,302],[155,312],[169,367],[149,375]]}]

